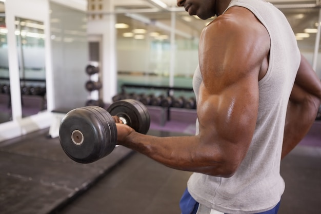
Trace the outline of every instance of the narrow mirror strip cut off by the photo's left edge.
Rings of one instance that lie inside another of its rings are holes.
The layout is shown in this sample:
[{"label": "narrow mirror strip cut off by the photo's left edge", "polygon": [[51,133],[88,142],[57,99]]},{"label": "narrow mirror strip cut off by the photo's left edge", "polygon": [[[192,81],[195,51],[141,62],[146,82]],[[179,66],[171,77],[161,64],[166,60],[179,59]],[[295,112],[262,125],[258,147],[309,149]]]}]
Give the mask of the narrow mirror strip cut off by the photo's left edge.
[{"label": "narrow mirror strip cut off by the photo's left edge", "polygon": [[7,32],[5,3],[0,2],[0,123],[8,122],[12,117]]}]

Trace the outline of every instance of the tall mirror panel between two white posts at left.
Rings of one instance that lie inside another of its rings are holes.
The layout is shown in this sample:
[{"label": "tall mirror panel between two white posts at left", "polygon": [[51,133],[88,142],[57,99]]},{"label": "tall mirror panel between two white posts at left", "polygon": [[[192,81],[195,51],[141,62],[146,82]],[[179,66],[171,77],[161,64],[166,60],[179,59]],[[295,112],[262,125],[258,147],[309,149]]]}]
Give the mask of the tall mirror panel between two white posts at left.
[{"label": "tall mirror panel between two white posts at left", "polygon": [[23,117],[46,110],[44,23],[15,18]]}]

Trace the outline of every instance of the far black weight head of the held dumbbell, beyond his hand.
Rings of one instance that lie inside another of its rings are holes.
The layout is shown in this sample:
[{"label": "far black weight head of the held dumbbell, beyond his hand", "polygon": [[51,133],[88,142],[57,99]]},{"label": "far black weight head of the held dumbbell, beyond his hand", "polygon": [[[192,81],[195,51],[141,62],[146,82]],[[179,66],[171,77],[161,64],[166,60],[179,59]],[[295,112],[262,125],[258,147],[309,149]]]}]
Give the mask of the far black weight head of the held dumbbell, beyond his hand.
[{"label": "far black weight head of the held dumbbell, beyond his hand", "polygon": [[150,126],[150,116],[145,105],[131,99],[116,101],[111,104],[107,111],[111,115],[124,118],[127,125],[139,133],[146,134]]}]

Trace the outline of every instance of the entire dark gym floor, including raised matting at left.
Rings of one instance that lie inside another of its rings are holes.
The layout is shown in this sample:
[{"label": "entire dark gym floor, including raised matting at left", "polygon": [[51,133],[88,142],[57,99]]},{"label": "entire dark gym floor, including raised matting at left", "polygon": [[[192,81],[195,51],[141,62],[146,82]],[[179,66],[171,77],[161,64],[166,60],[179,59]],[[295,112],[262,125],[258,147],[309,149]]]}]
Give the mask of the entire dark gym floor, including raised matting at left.
[{"label": "entire dark gym floor, including raised matting at left", "polygon": [[[190,112],[182,114],[194,120]],[[152,122],[148,134],[188,135],[195,129],[186,121],[163,125]],[[321,121],[316,121],[282,161],[286,190],[279,214],[321,210],[320,130]],[[48,139],[47,134],[48,129],[39,130],[0,142],[1,214],[180,213],[178,202],[190,172],[167,168],[121,146],[95,163],[78,164],[66,157],[57,138]]]}]

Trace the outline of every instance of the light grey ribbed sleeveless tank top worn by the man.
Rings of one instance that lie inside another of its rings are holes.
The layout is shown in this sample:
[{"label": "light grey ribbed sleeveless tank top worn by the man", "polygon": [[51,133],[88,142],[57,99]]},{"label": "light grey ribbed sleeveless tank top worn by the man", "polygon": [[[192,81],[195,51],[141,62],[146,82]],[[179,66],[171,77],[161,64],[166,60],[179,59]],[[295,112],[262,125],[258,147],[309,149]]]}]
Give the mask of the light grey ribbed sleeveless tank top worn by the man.
[{"label": "light grey ribbed sleeveless tank top worn by the man", "polygon": [[[300,53],[286,17],[272,4],[263,0],[233,0],[229,7],[232,6],[252,11],[266,27],[271,39],[268,71],[258,83],[255,132],[245,159],[231,178],[193,173],[188,190],[197,202],[210,209],[244,214],[273,208],[284,192],[285,183],[279,173],[280,156],[287,104]],[[196,97],[202,81],[197,67],[193,77]]]}]

